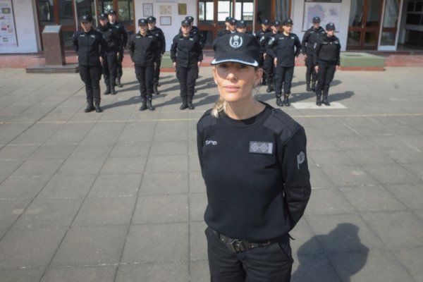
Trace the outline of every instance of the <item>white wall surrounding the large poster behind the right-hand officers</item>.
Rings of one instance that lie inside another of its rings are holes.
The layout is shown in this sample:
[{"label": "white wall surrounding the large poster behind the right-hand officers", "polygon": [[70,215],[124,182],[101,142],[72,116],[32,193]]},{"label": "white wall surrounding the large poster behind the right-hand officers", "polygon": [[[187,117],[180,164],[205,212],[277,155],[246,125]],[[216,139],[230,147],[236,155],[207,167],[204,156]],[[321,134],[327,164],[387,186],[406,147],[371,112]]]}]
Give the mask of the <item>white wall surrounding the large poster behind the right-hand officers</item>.
[{"label": "white wall surrounding the large poster behind the right-hand officers", "polygon": [[[341,51],[345,51],[347,46],[347,37],[348,37],[348,20],[350,18],[350,5],[351,1],[355,0],[343,0],[341,3],[341,19],[340,19],[340,26],[336,27],[335,35],[341,41]],[[305,33],[305,30],[302,30],[302,21],[305,18],[304,14],[304,5],[305,1],[293,1],[293,11],[291,13],[292,19],[294,22],[293,25],[293,33],[300,37],[302,40],[302,36]],[[324,3],[321,3],[324,4]],[[312,23],[309,23],[309,27],[312,27]],[[324,28],[324,26],[323,26]]]}]

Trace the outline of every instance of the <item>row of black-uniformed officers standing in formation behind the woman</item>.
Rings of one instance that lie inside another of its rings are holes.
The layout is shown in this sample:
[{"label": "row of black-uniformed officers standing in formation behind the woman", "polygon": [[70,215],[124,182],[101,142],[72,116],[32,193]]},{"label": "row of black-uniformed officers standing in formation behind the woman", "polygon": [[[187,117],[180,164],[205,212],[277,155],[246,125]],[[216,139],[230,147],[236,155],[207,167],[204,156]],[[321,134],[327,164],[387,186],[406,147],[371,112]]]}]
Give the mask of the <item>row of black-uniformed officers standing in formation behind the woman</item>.
[{"label": "row of black-uniformed officers standing in formation behind the woman", "polygon": [[[90,15],[82,16],[80,21],[82,30],[73,35],[73,48],[78,56],[80,77],[85,82],[85,112],[102,111],[99,87],[102,74],[106,84],[104,94],[116,94],[115,86],[122,87],[125,47],[129,49],[140,86],[140,111],[153,111],[152,94],[159,94],[161,57],[166,49],[166,39],[163,31],[156,26],[156,18],[151,16],[138,20],[139,32],[129,40],[123,24],[116,20],[115,11],[100,15],[97,30],[91,26]],[[198,27],[192,25],[193,21],[192,16],[182,21],[180,31],[173,37],[171,44],[171,60],[180,83],[181,110],[195,109],[192,98],[203,59],[204,37]],[[340,65],[341,44],[334,35],[335,26],[329,23],[325,31],[320,27],[319,17],[314,17],[313,26],[305,32],[302,42],[291,32],[292,27],[293,21],[290,19],[282,23],[278,20],[269,23],[269,20],[264,19],[262,29],[255,32],[254,36],[260,45],[259,67],[264,68],[262,85],[267,85],[266,92],[275,92],[278,106],[290,106],[289,96],[295,62],[302,51],[307,67],[306,90],[316,92],[318,106],[322,103],[329,106],[329,86],[336,68]],[[226,28],[219,31],[218,36],[245,30],[243,20],[227,17]]]}]

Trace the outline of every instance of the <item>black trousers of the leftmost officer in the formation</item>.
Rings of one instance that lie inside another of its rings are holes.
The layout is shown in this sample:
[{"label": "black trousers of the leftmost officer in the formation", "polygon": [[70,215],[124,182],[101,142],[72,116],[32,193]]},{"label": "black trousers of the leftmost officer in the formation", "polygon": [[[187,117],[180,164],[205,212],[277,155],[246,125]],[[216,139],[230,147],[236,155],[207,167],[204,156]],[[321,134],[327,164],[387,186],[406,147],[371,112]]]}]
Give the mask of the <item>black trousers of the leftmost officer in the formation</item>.
[{"label": "black trousers of the leftmost officer in the formation", "polygon": [[100,78],[102,78],[102,66],[79,65],[82,81],[85,83],[85,92],[88,101],[100,101]]}]

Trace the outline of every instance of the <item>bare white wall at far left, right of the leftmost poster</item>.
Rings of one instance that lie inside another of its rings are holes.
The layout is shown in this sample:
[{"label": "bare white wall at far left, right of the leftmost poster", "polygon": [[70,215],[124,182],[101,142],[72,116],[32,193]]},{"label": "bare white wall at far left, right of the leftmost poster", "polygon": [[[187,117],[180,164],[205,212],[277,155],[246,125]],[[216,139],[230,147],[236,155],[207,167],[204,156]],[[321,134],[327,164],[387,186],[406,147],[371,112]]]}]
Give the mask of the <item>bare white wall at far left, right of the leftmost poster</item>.
[{"label": "bare white wall at far left, right of the leftmost poster", "polygon": [[0,47],[0,54],[37,53],[40,48],[37,8],[33,1],[13,0],[18,47]]}]

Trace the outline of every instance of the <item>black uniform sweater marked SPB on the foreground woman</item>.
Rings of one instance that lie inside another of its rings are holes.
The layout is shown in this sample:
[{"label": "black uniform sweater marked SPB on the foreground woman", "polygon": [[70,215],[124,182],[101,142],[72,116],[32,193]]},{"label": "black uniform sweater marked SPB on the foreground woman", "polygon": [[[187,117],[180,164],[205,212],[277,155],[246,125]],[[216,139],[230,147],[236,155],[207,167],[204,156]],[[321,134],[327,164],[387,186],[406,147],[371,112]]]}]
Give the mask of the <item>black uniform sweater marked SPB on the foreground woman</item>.
[{"label": "black uniform sweater marked SPB on the foreground woman", "polygon": [[311,193],[305,130],[265,105],[244,121],[214,118],[209,110],[197,123],[204,220],[231,238],[281,238],[298,223]]}]

